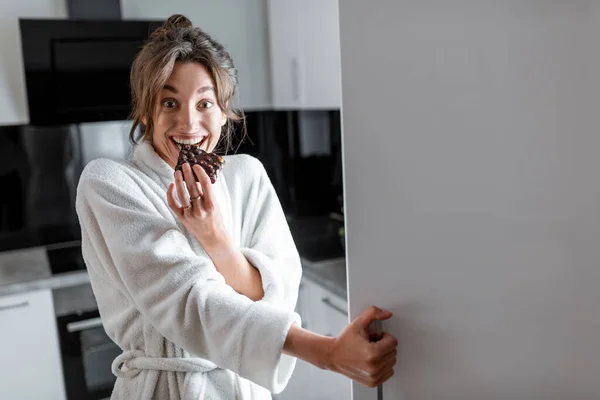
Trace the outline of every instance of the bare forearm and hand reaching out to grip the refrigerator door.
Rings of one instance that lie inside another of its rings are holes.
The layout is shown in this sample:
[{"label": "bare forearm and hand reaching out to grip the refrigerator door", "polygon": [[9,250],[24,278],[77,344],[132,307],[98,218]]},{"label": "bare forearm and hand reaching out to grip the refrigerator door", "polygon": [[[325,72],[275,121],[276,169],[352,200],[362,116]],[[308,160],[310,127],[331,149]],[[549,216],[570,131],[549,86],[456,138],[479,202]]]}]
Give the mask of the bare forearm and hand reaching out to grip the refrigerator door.
[{"label": "bare forearm and hand reaching out to grip the refrigerator door", "polygon": [[338,337],[317,335],[297,325],[288,331],[283,351],[319,368],[329,369],[368,387],[375,387],[394,375],[398,340],[384,333],[377,342],[369,341],[369,326],[386,320],[389,311],[369,307]]}]

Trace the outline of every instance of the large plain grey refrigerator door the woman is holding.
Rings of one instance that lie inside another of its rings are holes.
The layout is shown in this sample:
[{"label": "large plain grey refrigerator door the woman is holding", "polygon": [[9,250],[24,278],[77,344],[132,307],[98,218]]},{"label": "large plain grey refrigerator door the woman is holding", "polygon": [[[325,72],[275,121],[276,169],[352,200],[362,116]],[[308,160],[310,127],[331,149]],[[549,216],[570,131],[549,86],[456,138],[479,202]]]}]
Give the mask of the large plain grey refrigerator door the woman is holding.
[{"label": "large plain grey refrigerator door the woman is holding", "polygon": [[600,399],[600,2],[339,8],[350,317],[394,313],[383,398]]}]

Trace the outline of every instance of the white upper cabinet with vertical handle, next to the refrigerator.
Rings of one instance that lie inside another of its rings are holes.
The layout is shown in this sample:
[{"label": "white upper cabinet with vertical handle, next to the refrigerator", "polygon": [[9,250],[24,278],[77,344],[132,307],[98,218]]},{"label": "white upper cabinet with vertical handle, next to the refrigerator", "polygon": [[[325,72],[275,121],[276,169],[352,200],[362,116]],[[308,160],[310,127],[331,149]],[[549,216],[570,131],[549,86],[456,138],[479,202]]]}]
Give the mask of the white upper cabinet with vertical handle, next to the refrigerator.
[{"label": "white upper cabinet with vertical handle, next to the refrigerator", "polygon": [[268,0],[275,109],[339,109],[338,0]]}]

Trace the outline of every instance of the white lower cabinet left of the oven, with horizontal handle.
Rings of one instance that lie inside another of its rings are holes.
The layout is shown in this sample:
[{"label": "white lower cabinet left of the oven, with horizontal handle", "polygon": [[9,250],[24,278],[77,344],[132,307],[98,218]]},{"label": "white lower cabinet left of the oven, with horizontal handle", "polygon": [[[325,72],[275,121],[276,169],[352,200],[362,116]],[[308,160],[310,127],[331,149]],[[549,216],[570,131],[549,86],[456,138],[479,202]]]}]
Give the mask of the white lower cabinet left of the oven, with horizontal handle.
[{"label": "white lower cabinet left of the oven, with horizontal handle", "polygon": [[0,327],[0,399],[65,399],[51,291],[0,297]]}]

